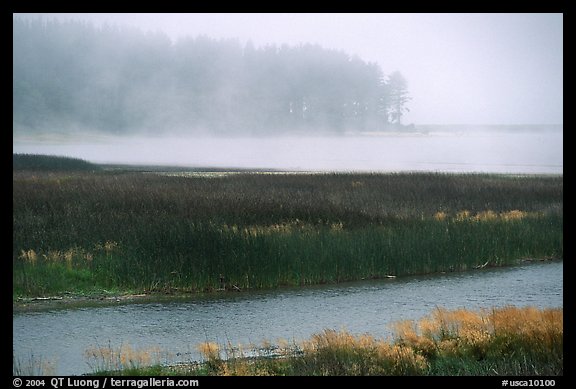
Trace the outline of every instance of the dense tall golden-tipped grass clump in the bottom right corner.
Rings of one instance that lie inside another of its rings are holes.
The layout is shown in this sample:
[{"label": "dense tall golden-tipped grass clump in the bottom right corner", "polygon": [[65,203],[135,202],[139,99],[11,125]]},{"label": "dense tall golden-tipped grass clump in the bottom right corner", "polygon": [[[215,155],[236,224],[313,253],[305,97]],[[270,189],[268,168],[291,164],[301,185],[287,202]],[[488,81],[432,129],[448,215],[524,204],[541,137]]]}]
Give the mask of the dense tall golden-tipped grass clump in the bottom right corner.
[{"label": "dense tall golden-tipped grass clump in the bottom right corner", "polygon": [[324,331],[304,342],[295,374],[562,375],[563,310],[437,309],[394,325],[391,341]]}]

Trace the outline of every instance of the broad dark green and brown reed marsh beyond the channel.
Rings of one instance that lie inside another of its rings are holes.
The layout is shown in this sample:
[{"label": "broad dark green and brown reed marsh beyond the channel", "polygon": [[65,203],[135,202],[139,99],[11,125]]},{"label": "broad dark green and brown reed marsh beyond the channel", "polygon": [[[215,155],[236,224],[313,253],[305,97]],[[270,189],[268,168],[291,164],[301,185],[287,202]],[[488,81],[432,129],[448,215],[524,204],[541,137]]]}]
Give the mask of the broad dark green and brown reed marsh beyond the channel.
[{"label": "broad dark green and brown reed marsh beyond the channel", "polygon": [[13,174],[15,296],[342,282],[563,256],[562,177]]}]

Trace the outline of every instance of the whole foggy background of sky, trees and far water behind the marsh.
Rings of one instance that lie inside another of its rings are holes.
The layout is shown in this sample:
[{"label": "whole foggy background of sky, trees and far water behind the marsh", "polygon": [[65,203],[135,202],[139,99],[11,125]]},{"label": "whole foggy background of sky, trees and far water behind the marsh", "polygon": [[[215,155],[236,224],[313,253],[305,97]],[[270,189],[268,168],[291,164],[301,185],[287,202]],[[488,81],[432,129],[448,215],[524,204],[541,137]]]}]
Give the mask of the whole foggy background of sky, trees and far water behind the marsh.
[{"label": "whole foggy background of sky, trees and far water behind the marsh", "polygon": [[563,169],[562,14],[14,14],[13,43],[14,152]]}]

